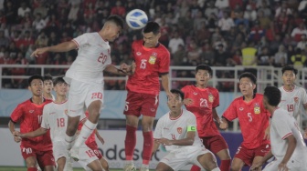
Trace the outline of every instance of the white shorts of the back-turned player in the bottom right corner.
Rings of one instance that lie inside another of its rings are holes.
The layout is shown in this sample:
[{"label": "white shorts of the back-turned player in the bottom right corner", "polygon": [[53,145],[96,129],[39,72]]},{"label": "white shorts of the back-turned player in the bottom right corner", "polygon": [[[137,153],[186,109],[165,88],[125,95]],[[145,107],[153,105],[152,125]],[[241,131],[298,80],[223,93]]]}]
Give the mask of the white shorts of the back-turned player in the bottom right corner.
[{"label": "white shorts of the back-turned player in the bottom right corner", "polygon": [[[263,171],[278,170],[278,166],[281,164],[282,158],[275,159],[264,167]],[[306,171],[307,164],[306,159],[291,157],[287,163],[289,170],[291,171]]]}]

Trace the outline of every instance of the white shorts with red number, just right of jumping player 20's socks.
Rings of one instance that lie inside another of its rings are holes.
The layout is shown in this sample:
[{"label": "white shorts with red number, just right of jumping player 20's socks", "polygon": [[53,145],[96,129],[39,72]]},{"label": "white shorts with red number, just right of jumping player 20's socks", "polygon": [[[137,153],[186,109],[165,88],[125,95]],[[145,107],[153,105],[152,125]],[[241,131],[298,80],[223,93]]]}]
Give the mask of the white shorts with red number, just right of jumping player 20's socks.
[{"label": "white shorts with red number, just right of jumping player 20's socks", "polygon": [[95,155],[94,151],[90,149],[89,146],[85,146],[85,145],[80,146],[79,161],[78,161],[80,166],[82,166],[85,170],[91,170],[88,165],[95,160],[99,160],[99,159]]}]

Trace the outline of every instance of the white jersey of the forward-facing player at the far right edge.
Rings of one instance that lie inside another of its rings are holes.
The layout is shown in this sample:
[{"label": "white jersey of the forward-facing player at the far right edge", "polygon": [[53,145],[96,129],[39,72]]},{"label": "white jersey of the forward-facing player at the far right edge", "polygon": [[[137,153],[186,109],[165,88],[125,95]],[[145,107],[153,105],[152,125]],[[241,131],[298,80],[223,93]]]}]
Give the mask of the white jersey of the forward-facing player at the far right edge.
[{"label": "white jersey of the forward-facing player at the far right edge", "polygon": [[296,85],[294,85],[292,91],[286,91],[283,86],[279,89],[281,90],[281,103],[279,104],[279,107],[291,113],[291,116],[293,116],[298,124],[301,125],[300,108],[302,105],[307,104],[306,91],[302,87]]}]

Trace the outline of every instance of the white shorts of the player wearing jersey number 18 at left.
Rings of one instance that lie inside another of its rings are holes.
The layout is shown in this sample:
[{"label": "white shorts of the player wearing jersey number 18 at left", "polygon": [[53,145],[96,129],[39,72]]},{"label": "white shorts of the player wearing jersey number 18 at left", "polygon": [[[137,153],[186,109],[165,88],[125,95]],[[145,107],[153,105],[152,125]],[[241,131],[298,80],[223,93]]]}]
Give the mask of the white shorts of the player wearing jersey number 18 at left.
[{"label": "white shorts of the player wearing jersey number 18 at left", "polygon": [[[58,161],[58,158],[65,157],[66,163],[64,170],[66,171],[72,171],[72,161],[69,157],[69,150],[67,150],[66,143],[62,141],[56,141],[52,143],[53,146],[53,156],[55,157],[56,162]],[[58,164],[57,164],[58,165]]]}]

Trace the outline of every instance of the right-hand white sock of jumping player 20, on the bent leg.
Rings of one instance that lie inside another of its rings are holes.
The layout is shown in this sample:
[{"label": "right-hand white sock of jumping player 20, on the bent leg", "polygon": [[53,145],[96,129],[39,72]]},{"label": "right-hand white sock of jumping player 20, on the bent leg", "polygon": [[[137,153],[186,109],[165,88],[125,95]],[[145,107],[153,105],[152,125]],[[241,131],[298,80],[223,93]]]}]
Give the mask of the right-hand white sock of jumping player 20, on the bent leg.
[{"label": "right-hand white sock of jumping player 20, on the bent leg", "polygon": [[74,146],[76,147],[81,146],[88,139],[88,137],[94,131],[96,126],[97,124],[91,123],[90,120],[88,119],[82,126],[79,137],[77,138]]}]

